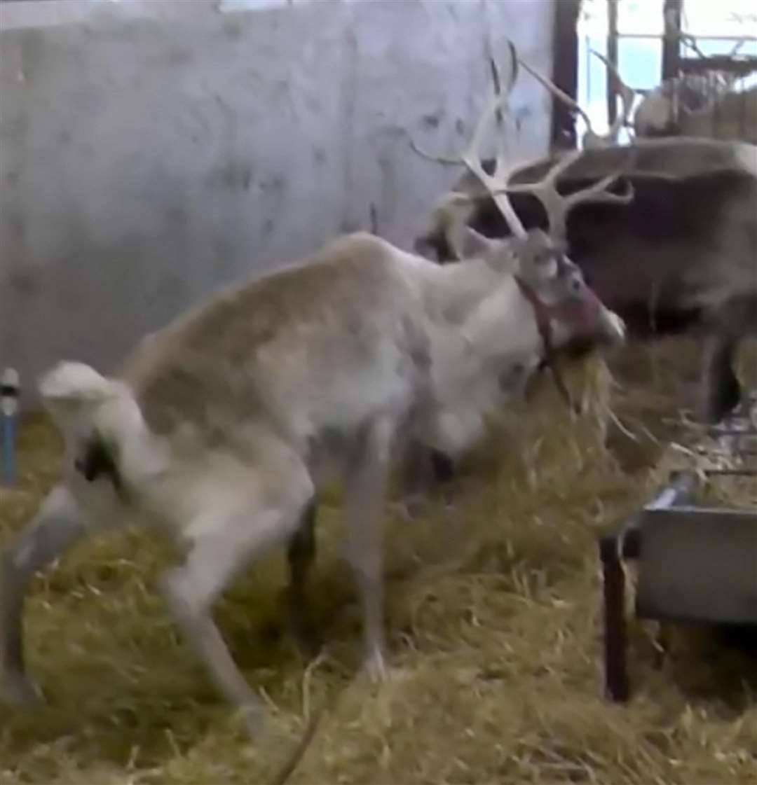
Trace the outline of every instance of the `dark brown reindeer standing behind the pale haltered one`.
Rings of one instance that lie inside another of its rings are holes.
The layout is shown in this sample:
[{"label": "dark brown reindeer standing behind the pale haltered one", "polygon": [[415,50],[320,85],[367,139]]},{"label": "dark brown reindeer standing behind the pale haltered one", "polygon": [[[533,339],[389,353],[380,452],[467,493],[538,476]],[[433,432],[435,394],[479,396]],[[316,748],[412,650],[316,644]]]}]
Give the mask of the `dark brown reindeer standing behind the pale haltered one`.
[{"label": "dark brown reindeer standing behind the pale haltered one", "polygon": [[[536,75],[532,67],[527,71]],[[537,79],[582,111],[544,76]],[[582,112],[585,149],[560,167],[560,192],[570,199],[587,182],[613,173],[631,184],[634,199],[623,210],[582,204],[571,211],[564,239],[575,264],[624,319],[631,337],[694,330],[707,338],[700,416],[718,422],[740,401],[733,371],[738,345],[757,332],[757,147],[693,137],[618,145],[616,133],[633,105],[633,91],[620,84],[623,112],[607,134],[596,133]],[[509,188],[510,203],[527,228],[546,221],[523,186],[554,166],[553,157],[524,164],[510,179],[518,186]],[[459,254],[450,230],[461,221],[490,237],[510,232],[491,195],[465,173],[435,204],[415,250],[441,263],[455,261]]]}]

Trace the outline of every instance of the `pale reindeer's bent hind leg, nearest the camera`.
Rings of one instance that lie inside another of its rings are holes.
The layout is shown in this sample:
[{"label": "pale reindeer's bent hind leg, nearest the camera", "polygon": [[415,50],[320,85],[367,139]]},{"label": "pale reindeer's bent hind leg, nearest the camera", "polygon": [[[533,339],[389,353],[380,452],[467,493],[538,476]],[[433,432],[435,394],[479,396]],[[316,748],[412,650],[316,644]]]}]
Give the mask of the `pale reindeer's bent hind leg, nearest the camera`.
[{"label": "pale reindeer's bent hind leg, nearest the camera", "polygon": [[186,641],[219,692],[240,711],[252,736],[262,729],[265,711],[226,648],[211,606],[244,564],[291,538],[312,492],[312,485],[298,489],[290,483],[275,503],[270,492],[266,494],[265,506],[255,504],[222,516],[217,504],[209,506],[186,530],[191,543],[186,563],[161,579],[164,597]]}]

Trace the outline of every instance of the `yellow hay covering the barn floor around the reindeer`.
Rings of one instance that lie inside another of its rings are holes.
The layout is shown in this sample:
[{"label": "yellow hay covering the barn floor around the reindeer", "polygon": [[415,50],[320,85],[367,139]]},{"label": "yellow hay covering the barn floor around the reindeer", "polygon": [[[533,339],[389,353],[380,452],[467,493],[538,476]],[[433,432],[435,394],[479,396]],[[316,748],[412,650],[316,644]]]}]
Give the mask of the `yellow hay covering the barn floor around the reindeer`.
[{"label": "yellow hay covering the barn floor around the reindeer", "polygon": [[[688,372],[670,370],[682,344],[634,352],[632,373],[617,363],[620,385],[596,361],[568,372],[581,417],[542,385],[528,418],[519,408],[502,418],[462,467],[452,509],[436,500],[420,520],[391,516],[386,684],[355,677],[360,614],[340,560],[338,494],[325,498],[313,576],[320,658],[303,662],[282,629],[281,554],[226,593],[217,618],[273,715],[259,745],[157,597],[165,544],[127,531],[79,546],[35,579],[29,659],[50,706],[0,708],[0,781],[269,783],[334,700],[289,782],[753,782],[748,670],[711,655],[705,638],[680,637],[658,669],[652,631],[634,623],[634,700],[601,696],[597,534],[683,455],[666,447],[663,423],[678,411],[671,377]],[[3,539],[50,486],[59,449],[41,420],[22,429]],[[742,483],[753,499],[755,484]]]}]

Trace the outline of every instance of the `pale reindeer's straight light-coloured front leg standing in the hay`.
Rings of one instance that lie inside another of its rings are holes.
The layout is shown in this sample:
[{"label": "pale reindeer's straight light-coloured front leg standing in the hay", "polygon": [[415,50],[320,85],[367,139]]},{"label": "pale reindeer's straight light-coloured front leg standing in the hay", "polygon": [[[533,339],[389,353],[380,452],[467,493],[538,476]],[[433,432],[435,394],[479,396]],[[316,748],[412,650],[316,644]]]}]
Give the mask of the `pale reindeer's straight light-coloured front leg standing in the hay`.
[{"label": "pale reindeer's straight light-coloured front leg standing in the hay", "polygon": [[366,429],[347,476],[347,558],[362,597],[363,666],[384,677],[384,500],[395,425],[388,418]]}]

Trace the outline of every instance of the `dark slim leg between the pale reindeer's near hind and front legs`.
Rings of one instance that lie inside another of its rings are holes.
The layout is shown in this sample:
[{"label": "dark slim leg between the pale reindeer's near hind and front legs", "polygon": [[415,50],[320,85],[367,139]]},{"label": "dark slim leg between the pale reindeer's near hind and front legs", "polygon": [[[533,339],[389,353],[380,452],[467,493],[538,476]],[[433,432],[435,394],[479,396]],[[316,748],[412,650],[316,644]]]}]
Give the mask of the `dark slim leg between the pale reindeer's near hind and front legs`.
[{"label": "dark slim leg between the pale reindeer's near hind and front legs", "polygon": [[313,498],[305,508],[297,531],[289,540],[289,620],[297,647],[305,655],[314,655],[320,648],[306,597],[307,575],[315,561],[315,524],[318,501]]}]

